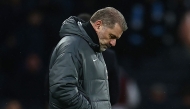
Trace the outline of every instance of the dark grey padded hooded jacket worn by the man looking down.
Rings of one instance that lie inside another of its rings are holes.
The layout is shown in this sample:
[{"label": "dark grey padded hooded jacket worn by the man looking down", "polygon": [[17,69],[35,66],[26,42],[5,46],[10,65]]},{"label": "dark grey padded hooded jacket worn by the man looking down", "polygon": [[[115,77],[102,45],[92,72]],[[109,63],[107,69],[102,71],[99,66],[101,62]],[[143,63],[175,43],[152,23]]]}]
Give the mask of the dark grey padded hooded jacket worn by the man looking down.
[{"label": "dark grey padded hooded jacket worn by the man looking down", "polygon": [[108,74],[101,52],[70,17],[63,22],[50,60],[50,109],[111,109]]}]

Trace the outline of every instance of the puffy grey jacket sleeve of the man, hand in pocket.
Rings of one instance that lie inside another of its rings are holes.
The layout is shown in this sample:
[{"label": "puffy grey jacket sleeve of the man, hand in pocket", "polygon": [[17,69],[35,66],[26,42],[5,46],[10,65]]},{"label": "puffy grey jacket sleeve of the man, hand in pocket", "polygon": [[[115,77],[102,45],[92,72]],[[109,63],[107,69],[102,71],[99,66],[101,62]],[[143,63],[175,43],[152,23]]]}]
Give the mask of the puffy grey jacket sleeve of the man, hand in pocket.
[{"label": "puffy grey jacket sleeve of the man, hand in pocket", "polygon": [[78,88],[77,61],[71,53],[61,53],[50,69],[50,93],[69,109],[91,109],[90,102]]}]

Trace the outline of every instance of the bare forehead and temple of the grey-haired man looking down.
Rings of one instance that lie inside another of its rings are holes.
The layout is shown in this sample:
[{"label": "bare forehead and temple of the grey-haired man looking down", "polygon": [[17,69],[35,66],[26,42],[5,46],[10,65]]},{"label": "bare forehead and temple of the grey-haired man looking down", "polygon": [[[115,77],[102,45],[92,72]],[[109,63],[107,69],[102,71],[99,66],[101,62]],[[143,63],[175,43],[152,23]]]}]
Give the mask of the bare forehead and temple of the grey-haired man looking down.
[{"label": "bare forehead and temple of the grey-haired man looking down", "polygon": [[115,35],[117,38],[120,38],[123,33],[123,31],[118,23],[115,24],[114,28],[109,28],[108,32],[109,32],[109,34]]}]

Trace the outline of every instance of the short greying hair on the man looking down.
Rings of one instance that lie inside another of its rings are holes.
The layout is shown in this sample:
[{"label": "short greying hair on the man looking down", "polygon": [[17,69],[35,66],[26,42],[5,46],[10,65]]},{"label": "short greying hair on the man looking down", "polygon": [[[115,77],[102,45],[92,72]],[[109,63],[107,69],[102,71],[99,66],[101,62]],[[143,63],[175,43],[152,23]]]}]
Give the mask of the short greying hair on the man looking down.
[{"label": "short greying hair on the man looking down", "polygon": [[114,28],[118,23],[123,31],[128,29],[124,16],[117,9],[113,7],[105,7],[96,11],[90,18],[91,22],[101,20],[104,26]]}]

